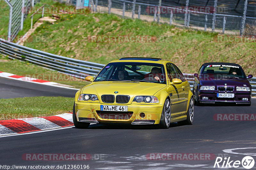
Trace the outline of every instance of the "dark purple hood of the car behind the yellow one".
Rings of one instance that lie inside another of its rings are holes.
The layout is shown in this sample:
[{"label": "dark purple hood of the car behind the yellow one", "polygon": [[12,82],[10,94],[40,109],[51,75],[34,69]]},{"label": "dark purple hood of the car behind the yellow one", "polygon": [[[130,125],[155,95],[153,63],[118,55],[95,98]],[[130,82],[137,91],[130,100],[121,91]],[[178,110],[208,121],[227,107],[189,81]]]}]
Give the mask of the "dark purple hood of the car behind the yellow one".
[{"label": "dark purple hood of the car behind the yellow one", "polygon": [[250,87],[250,83],[247,79],[213,79],[213,80],[201,80],[201,85],[204,86],[241,86],[244,87]]}]

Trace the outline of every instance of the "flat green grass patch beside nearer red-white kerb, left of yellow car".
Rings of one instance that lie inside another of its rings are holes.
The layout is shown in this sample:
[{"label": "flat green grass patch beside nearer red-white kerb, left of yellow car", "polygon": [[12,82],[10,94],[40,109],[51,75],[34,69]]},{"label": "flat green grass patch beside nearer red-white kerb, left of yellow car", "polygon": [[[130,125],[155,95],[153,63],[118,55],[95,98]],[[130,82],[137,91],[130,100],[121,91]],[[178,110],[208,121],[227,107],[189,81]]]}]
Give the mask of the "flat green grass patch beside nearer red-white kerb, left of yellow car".
[{"label": "flat green grass patch beside nearer red-white kerb, left of yellow car", "polygon": [[24,97],[0,99],[0,120],[71,113],[74,99],[68,97]]}]

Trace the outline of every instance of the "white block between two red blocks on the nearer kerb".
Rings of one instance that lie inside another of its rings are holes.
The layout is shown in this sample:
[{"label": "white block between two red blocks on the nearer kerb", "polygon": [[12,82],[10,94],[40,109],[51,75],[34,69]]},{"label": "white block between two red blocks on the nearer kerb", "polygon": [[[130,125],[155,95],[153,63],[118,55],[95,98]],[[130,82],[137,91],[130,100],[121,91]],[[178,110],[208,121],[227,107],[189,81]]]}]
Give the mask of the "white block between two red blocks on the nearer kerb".
[{"label": "white block between two red blocks on the nearer kerb", "polygon": [[24,122],[31,124],[41,130],[61,128],[61,126],[52,123],[43,117],[20,118],[19,120],[23,120]]}]

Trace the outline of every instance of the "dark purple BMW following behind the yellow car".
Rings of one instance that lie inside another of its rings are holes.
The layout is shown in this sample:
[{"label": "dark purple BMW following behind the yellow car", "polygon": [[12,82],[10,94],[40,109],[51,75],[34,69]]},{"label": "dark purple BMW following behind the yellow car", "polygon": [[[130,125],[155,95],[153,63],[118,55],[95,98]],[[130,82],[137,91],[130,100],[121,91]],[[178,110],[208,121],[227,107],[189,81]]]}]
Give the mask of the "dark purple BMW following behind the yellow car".
[{"label": "dark purple BMW following behind the yellow car", "polygon": [[246,76],[240,65],[204,63],[194,76],[193,93],[198,105],[218,102],[251,105],[252,86],[247,78],[252,75]]}]

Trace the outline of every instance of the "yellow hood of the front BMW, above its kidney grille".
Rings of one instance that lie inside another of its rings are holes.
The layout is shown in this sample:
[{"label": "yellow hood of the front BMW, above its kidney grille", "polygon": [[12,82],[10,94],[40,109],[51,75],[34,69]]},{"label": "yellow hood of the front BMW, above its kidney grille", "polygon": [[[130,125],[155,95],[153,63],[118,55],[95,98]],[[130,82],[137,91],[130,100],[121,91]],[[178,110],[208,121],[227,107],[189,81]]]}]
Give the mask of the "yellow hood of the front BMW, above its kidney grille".
[{"label": "yellow hood of the front BMW, above its kidney grille", "polygon": [[[101,101],[102,95],[127,95],[133,99],[135,96],[154,96],[154,94],[166,87],[166,84],[130,81],[98,81],[85,86],[83,94],[95,94]],[[118,93],[114,93],[118,91]]]}]

